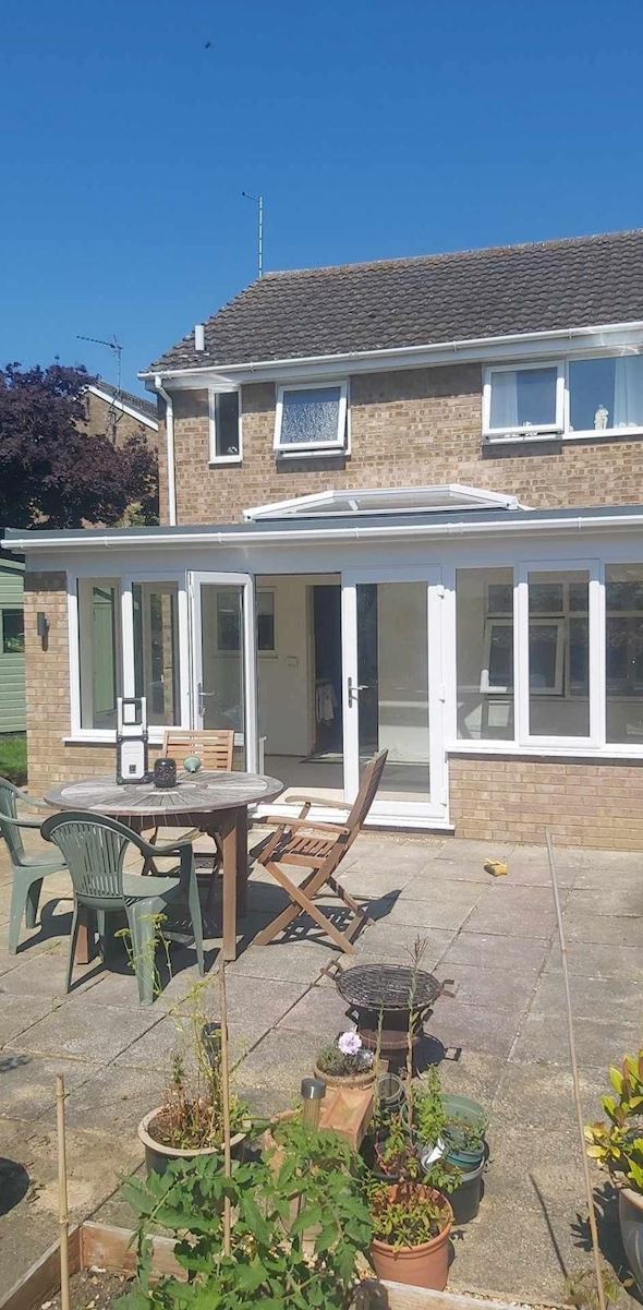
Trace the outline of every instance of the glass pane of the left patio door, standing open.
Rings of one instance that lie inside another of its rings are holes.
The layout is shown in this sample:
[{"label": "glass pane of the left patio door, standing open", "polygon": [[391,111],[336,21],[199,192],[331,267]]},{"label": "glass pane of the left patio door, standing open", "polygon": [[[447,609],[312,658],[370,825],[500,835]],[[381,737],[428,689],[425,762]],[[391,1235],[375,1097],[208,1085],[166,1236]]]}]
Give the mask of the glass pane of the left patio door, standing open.
[{"label": "glass pane of the left patio door, standing open", "polygon": [[200,586],[199,727],[244,732],[244,588]]}]

